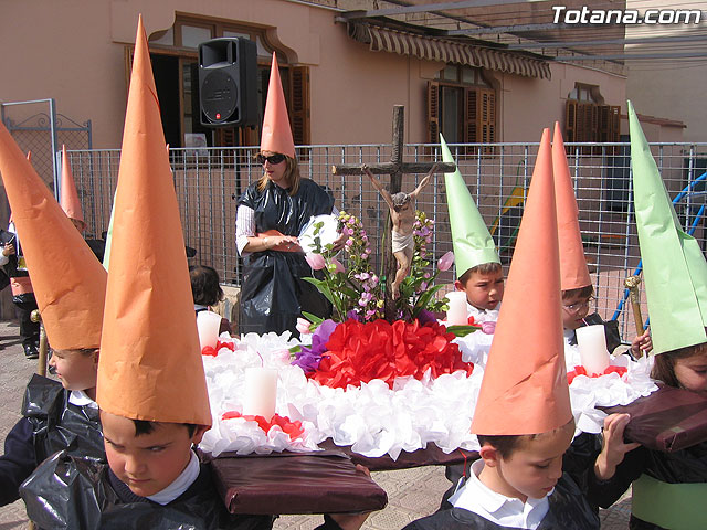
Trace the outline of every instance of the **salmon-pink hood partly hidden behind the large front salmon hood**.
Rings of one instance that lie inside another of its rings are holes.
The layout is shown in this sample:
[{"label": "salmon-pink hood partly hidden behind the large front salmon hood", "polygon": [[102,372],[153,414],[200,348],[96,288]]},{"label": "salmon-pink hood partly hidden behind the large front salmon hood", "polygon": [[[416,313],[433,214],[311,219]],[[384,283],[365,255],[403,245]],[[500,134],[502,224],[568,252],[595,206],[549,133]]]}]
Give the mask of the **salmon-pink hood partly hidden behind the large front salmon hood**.
[{"label": "salmon-pink hood partly hidden behind the large front salmon hood", "polygon": [[560,286],[562,290],[587,287],[592,285],[592,280],[589,277],[584,245],[579,231],[579,209],[564,155],[564,141],[560,124],[557,121],[552,139],[552,171],[557,202],[557,236],[560,244]]}]

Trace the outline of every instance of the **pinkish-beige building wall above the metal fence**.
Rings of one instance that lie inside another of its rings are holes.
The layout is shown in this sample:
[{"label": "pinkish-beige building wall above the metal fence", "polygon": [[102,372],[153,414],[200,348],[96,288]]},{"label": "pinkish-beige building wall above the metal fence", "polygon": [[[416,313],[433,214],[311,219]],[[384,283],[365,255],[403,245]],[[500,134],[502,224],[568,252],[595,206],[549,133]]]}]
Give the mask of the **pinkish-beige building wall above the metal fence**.
[{"label": "pinkish-beige building wall above the metal fence", "polygon": [[[60,113],[93,121],[95,148],[120,146],[124,50],[134,42],[140,12],[148,34],[169,28],[176,12],[267,26],[292,62],[310,67],[313,144],[389,142],[395,104],[405,105],[405,141],[424,141],[426,82],[443,67],[370,52],[334,22],[336,11],[284,0],[33,0],[3,2],[2,10],[0,46],[18,53],[0,59],[0,98],[55,98]],[[538,141],[542,127],[563,124],[574,82],[599,85],[605,103],[625,110],[623,77],[574,65],[551,70],[551,81],[489,73],[499,88],[499,141]]]}]

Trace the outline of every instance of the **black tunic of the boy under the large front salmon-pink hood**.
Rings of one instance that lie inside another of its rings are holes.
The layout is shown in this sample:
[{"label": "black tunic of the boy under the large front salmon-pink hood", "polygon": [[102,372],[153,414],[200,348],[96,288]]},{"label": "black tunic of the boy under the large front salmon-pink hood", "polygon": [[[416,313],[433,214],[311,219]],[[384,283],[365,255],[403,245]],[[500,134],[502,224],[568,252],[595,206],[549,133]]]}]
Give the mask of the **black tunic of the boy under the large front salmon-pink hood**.
[{"label": "black tunic of the boy under the large front salmon-pink hood", "polygon": [[[569,475],[564,474],[560,478],[548,500],[550,508],[538,530],[599,529],[599,516],[589,506]],[[513,527],[502,527],[472,511],[452,508],[412,521],[404,530],[497,530],[504,528],[513,530]]]}]

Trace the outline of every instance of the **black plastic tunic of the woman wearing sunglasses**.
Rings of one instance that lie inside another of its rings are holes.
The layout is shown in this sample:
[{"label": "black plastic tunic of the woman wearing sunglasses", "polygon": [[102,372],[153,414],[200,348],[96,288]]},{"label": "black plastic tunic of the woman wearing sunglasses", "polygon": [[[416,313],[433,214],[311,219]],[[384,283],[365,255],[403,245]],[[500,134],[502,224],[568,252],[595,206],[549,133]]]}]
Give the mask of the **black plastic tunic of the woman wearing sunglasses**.
[{"label": "black plastic tunic of the woman wearing sunglasses", "polygon": [[[319,184],[309,179],[299,181],[294,197],[273,182],[257,191],[251,184],[239,199],[239,205],[254,211],[255,231],[276,230],[283,235],[298,236],[313,215],[331,213],[334,199]],[[300,253],[264,251],[244,257],[241,287],[241,333],[296,330],[302,311],[319,317],[330,314],[327,299],[317,288],[305,282],[313,276],[312,268]]]}]

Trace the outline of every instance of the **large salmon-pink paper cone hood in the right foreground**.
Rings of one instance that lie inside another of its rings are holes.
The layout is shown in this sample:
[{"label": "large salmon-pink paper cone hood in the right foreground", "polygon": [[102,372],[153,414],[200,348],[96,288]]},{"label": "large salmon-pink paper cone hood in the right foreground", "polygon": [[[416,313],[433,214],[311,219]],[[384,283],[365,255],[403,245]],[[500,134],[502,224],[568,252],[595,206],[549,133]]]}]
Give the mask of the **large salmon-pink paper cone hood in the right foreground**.
[{"label": "large salmon-pink paper cone hood in the right foreground", "polygon": [[539,434],[572,418],[550,150],[545,129],[476,402],[475,434]]}]

